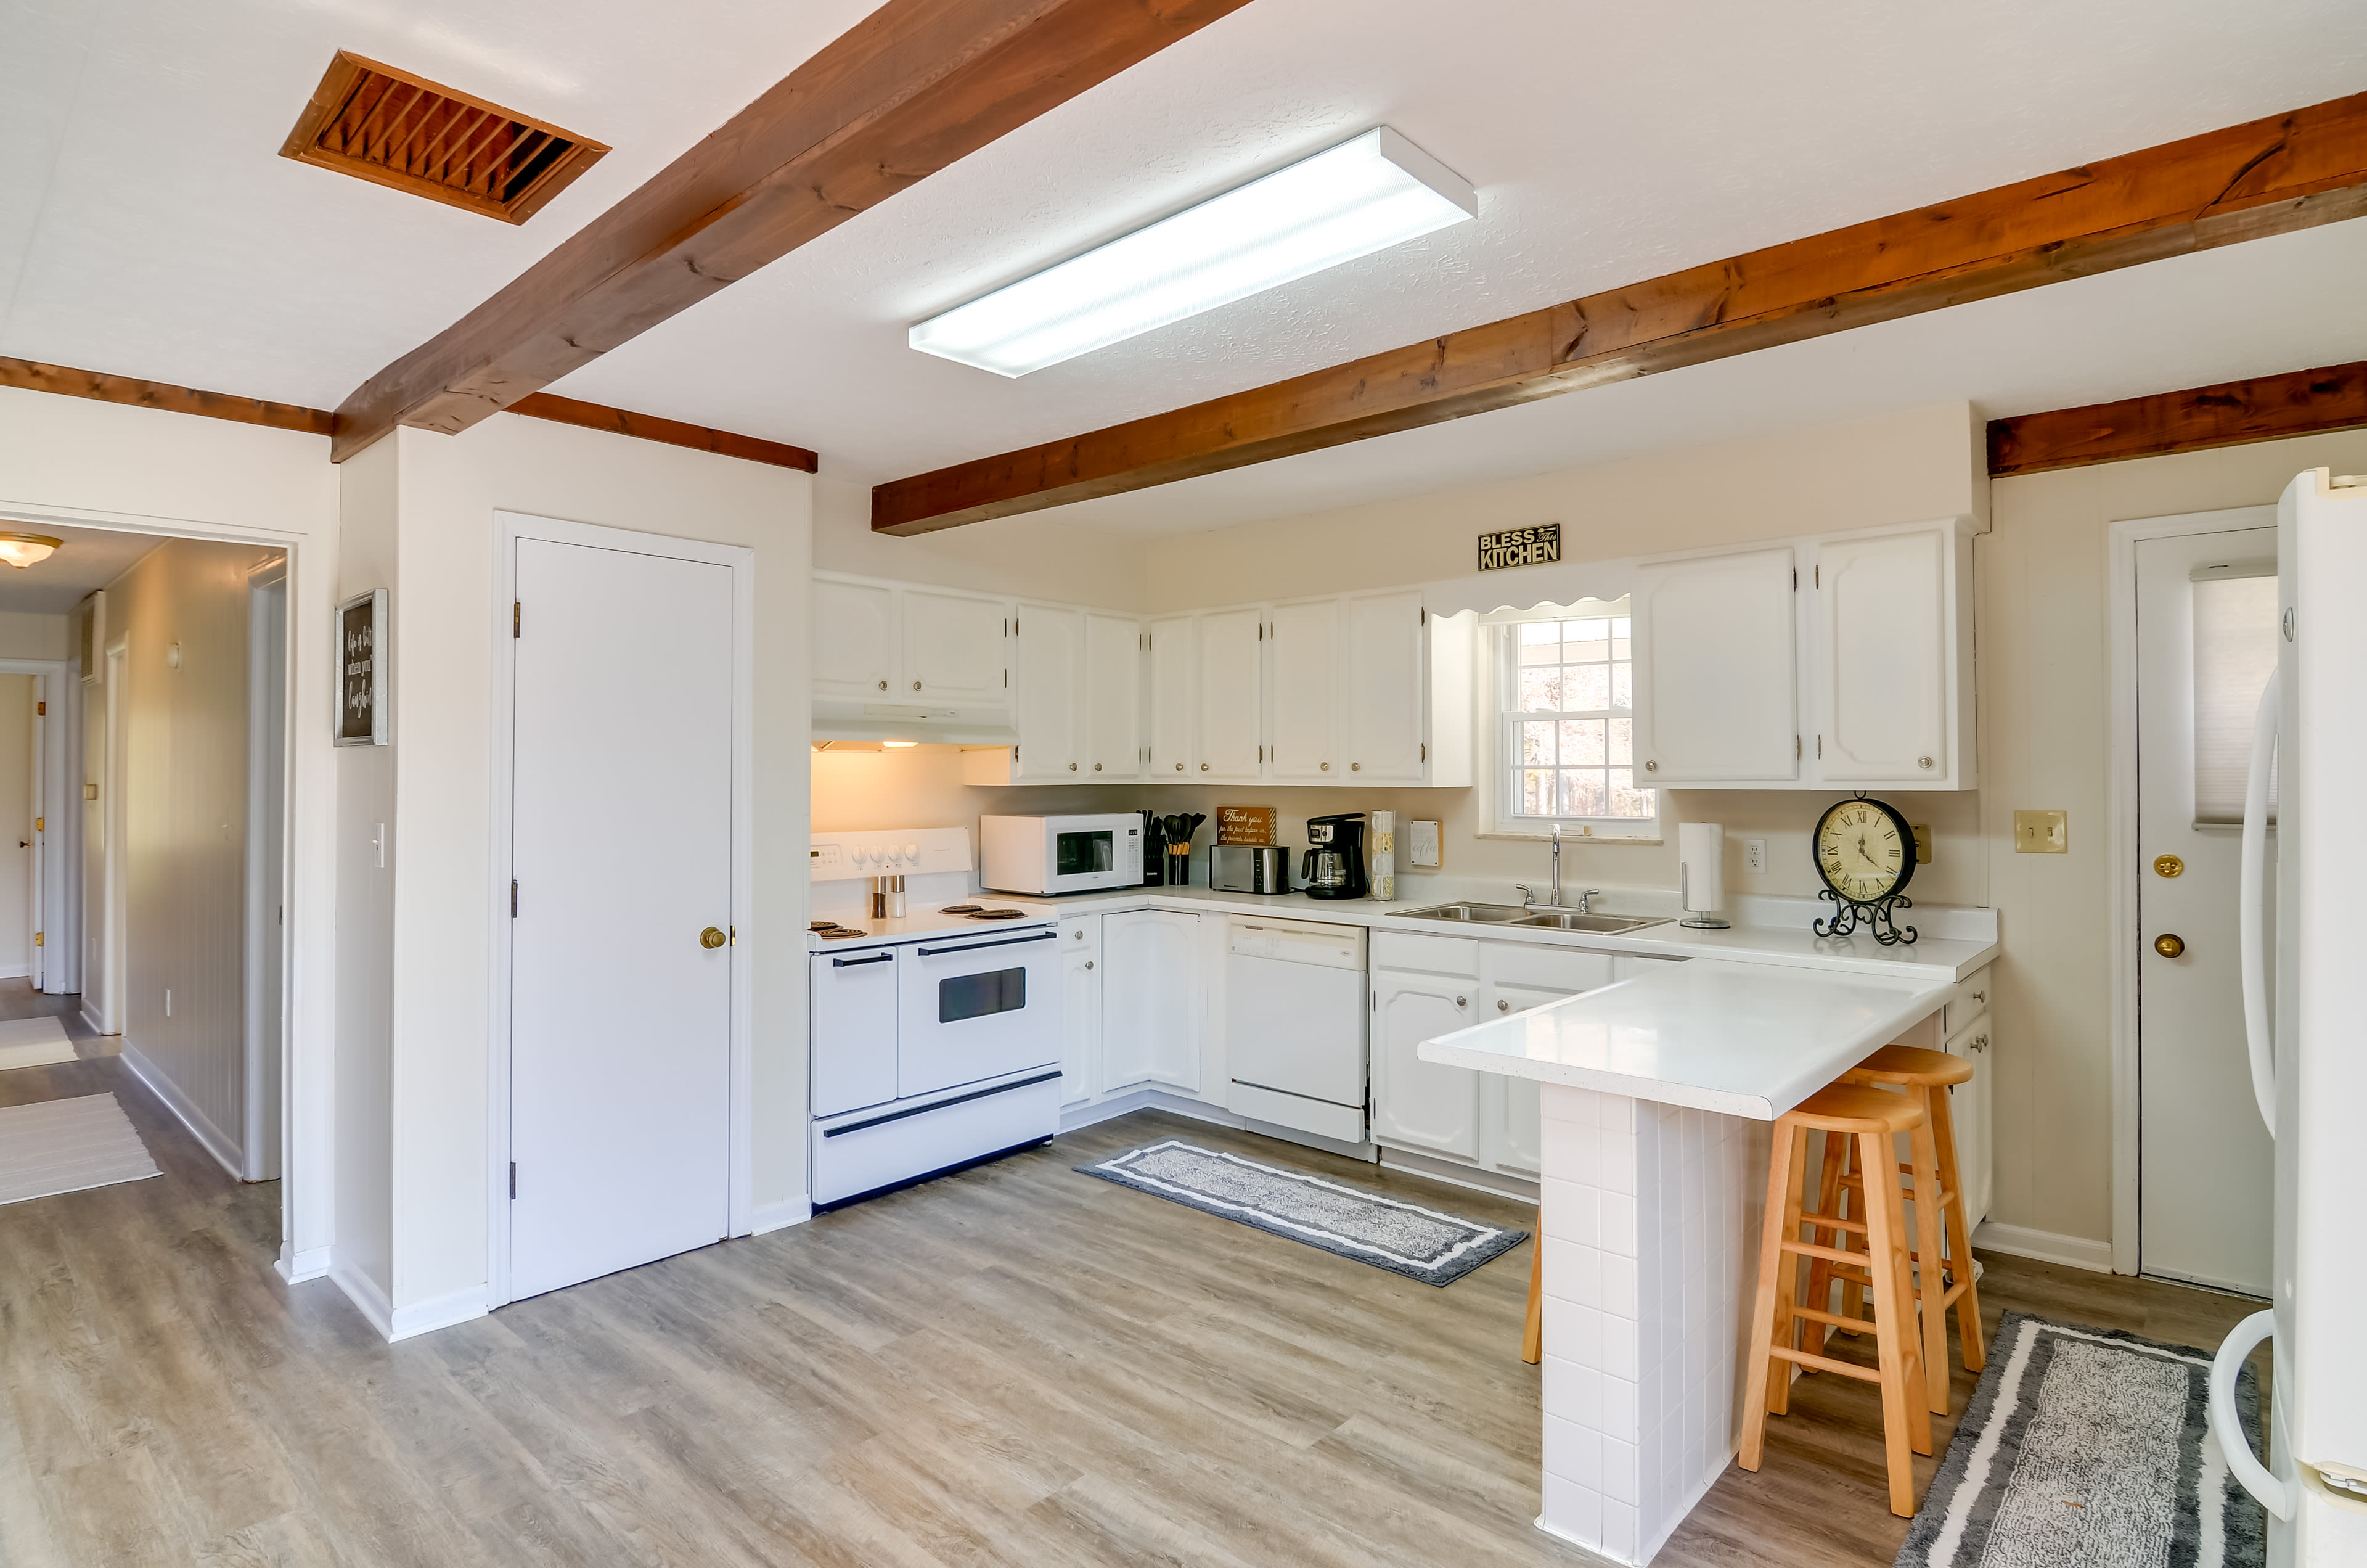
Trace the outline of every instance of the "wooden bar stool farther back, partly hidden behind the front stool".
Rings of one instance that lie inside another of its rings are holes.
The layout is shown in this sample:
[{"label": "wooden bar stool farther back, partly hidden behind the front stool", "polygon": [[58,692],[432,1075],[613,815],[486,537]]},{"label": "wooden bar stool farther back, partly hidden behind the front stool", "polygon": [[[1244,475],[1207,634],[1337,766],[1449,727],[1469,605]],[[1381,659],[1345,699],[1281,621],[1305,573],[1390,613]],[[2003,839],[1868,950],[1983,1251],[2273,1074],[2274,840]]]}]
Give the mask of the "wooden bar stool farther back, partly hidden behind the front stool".
[{"label": "wooden bar stool farther back, partly hidden behind the front stool", "polygon": [[[1948,1052],[1927,1052],[1913,1045],[1884,1045],[1879,1052],[1842,1073],[1851,1085],[1894,1085],[1924,1111],[1922,1127],[1908,1135],[1908,1163],[1898,1175],[1908,1177],[1915,1199],[1915,1296],[1922,1305],[1924,1343],[1924,1393],[1931,1414],[1948,1414],[1948,1307],[1955,1307],[1958,1338],[1965,1345],[1965,1371],[1979,1371],[1986,1362],[1981,1341],[1981,1296],[1972,1279],[1972,1227],[1965,1217],[1965,1184],[1955,1163],[1955,1120],[1948,1116],[1948,1090],[1972,1080],[1972,1063]],[[1818,1208],[1846,1213],[1842,1203],[1851,1194],[1865,1191],[1863,1161],[1849,1158],[1839,1149],[1844,1139],[1825,1144],[1825,1180]],[[1896,1153],[1891,1156],[1896,1163]],[[1936,1194],[1936,1196],[1934,1196]],[[1863,1206],[1863,1203],[1860,1203]],[[1837,1246],[1849,1251],[1849,1234],[1837,1232]],[[1946,1255],[1943,1255],[1946,1253]],[[1808,1300],[1830,1305],[1832,1267],[1818,1260],[1808,1267]],[[1842,1312],[1858,1317],[1858,1286],[1846,1284]]]}]

